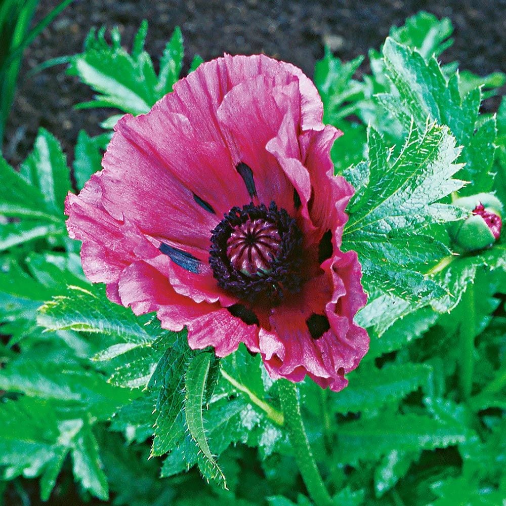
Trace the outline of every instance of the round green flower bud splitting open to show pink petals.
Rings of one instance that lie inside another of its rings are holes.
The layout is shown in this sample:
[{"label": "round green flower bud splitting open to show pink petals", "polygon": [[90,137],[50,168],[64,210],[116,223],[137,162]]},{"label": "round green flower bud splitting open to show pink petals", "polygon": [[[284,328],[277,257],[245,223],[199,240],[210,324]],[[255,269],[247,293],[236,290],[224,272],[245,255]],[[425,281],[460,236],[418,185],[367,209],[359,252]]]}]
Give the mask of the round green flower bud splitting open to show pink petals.
[{"label": "round green flower bud splitting open to show pink petals", "polygon": [[478,251],[492,246],[501,233],[502,204],[490,193],[461,197],[453,205],[469,209],[472,215],[450,229],[454,244],[462,251]]}]

